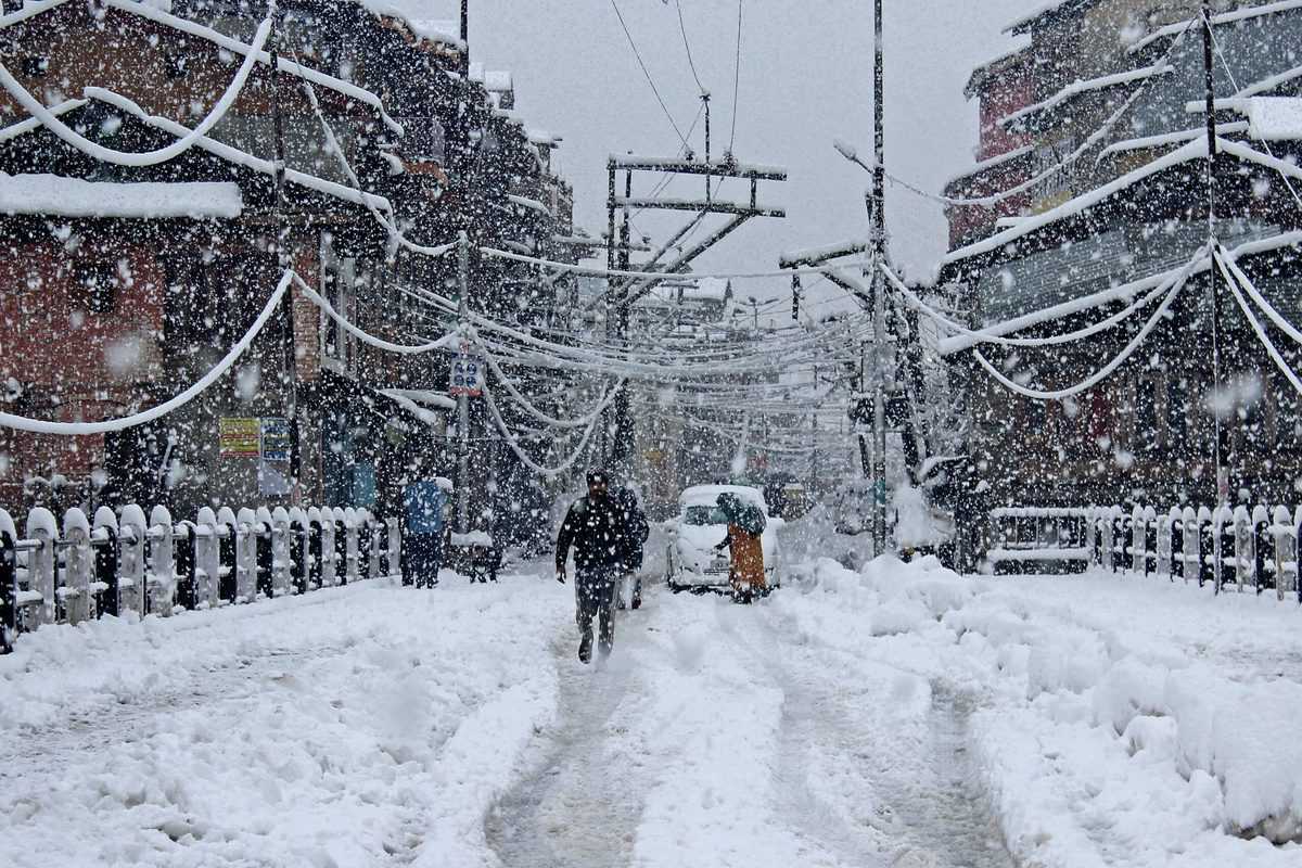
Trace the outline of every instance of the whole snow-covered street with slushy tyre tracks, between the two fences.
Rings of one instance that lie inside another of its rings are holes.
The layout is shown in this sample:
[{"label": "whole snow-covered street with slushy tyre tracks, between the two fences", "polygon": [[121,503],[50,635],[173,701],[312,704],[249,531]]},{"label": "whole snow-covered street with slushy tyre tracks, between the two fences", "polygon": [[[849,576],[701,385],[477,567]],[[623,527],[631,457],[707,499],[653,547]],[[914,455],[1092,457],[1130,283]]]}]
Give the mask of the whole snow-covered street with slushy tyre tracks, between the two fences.
[{"label": "whole snow-covered street with slushy tyre tracks, between the two fences", "polygon": [[1302,816],[1290,605],[822,561],[749,608],[655,588],[587,668],[572,603],[535,574],[372,582],[26,636],[0,658],[0,859],[1302,860],[1230,833]]}]

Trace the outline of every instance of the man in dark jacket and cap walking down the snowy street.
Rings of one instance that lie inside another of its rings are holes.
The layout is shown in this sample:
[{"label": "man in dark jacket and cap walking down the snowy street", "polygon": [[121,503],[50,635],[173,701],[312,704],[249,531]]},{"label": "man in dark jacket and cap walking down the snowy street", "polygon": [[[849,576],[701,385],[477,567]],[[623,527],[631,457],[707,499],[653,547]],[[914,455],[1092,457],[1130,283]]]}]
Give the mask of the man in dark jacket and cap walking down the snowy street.
[{"label": "man in dark jacket and cap walking down the snowy street", "polygon": [[556,580],[565,582],[565,561],[574,548],[574,601],[578,621],[578,658],[592,660],[592,618],[600,619],[599,648],[615,647],[615,586],[624,570],[624,535],[620,509],[602,471],[587,475],[587,497],[569,508],[556,539]]}]

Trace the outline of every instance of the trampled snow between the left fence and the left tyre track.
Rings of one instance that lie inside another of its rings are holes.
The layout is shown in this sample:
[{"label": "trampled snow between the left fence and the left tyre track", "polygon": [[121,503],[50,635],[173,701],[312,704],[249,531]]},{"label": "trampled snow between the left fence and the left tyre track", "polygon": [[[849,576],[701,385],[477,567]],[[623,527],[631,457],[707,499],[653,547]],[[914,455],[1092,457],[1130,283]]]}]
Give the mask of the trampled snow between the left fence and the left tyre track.
[{"label": "trampled snow between the left fence and the left tyre track", "polygon": [[[0,864],[475,864],[556,713],[536,579],[43,629],[0,657]],[[551,588],[548,588],[549,591]]]}]

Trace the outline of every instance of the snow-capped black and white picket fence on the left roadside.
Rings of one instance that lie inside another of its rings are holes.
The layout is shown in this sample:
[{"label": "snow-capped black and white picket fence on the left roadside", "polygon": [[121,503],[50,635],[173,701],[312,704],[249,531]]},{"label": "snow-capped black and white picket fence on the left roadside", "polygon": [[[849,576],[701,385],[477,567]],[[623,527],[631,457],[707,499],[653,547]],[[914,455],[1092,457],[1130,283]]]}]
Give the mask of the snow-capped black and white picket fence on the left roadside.
[{"label": "snow-capped black and white picket fence on the left roadside", "polygon": [[[60,532],[61,531],[61,532]],[[70,509],[60,528],[35,508],[20,535],[0,509],[0,653],[20,632],[134,612],[254,603],[358,579],[396,575],[397,519],[365,509],[277,506],[214,511],[176,522],[165,506],[102,506],[94,519]]]}]

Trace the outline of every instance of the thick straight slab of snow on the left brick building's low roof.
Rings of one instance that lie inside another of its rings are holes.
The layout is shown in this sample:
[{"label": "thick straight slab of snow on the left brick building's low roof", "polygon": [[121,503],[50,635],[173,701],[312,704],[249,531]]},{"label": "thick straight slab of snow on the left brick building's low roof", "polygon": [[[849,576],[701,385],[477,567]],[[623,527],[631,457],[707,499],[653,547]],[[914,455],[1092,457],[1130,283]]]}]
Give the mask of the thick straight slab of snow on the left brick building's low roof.
[{"label": "thick straight slab of snow on the left brick building's low roof", "polygon": [[232,182],[117,183],[0,172],[0,213],[60,217],[233,220],[243,212]]}]

